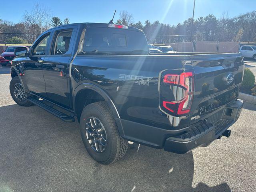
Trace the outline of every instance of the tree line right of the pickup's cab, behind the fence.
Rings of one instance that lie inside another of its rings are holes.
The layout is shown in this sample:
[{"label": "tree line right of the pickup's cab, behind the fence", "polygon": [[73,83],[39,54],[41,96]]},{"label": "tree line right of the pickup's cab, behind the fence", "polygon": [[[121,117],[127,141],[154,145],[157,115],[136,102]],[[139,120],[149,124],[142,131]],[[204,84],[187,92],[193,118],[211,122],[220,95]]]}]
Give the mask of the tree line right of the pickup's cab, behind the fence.
[{"label": "tree line right of the pickup's cab, behind the fence", "polygon": [[256,11],[229,17],[223,13],[221,18],[209,14],[193,20],[188,18],[176,25],[151,23],[146,20],[134,23],[132,14],[122,11],[116,24],[129,25],[144,31],[150,43],[175,43],[190,41],[256,42]]}]

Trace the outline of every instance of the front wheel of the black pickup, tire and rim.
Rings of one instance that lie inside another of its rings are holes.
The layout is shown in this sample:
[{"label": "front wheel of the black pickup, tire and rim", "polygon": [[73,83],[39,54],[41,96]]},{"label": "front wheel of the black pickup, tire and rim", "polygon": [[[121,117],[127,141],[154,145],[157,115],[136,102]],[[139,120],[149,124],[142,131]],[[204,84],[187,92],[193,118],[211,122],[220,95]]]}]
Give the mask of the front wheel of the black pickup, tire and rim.
[{"label": "front wheel of the black pickup, tire and rim", "polygon": [[33,104],[27,100],[27,93],[24,90],[18,76],[12,78],[10,82],[10,94],[12,99],[20,106],[32,106]]}]

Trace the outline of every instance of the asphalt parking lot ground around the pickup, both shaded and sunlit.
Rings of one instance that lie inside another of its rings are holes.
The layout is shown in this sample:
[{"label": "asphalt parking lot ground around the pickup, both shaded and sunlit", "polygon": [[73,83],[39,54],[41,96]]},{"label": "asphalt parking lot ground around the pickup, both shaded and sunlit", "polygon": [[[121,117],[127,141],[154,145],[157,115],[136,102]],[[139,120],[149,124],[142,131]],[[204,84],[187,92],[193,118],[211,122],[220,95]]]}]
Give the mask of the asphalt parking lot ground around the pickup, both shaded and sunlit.
[{"label": "asphalt parking lot ground around the pickup, both shaded and sunlit", "polygon": [[64,123],[9,93],[10,66],[0,66],[0,192],[256,191],[256,105],[244,104],[230,138],[179,155],[130,144],[118,162],[86,152],[78,123]]}]

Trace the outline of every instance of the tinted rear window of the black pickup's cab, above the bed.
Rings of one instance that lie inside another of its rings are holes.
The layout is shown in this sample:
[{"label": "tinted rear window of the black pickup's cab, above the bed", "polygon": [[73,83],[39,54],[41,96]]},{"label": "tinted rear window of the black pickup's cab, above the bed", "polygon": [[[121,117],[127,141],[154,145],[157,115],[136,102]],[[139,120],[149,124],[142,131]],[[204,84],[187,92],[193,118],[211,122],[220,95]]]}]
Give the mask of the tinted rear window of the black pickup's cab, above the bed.
[{"label": "tinted rear window of the black pickup's cab, above the bed", "polygon": [[86,29],[83,51],[87,54],[104,52],[145,54],[148,52],[148,43],[142,32],[91,27]]}]

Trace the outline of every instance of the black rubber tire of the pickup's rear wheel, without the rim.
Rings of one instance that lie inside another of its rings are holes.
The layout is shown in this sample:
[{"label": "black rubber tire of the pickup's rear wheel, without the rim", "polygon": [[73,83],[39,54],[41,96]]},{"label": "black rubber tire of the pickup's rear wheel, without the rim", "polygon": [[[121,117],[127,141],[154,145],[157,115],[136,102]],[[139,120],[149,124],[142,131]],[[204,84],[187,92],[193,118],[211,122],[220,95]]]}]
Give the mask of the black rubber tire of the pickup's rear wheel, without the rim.
[{"label": "black rubber tire of the pickup's rear wheel, without the rim", "polygon": [[[106,148],[96,152],[86,136],[86,122],[89,118],[97,118],[106,132]],[[90,156],[101,164],[111,164],[124,156],[128,149],[128,141],[120,137],[116,122],[106,102],[96,102],[86,106],[80,116],[80,132],[84,146]]]}]

